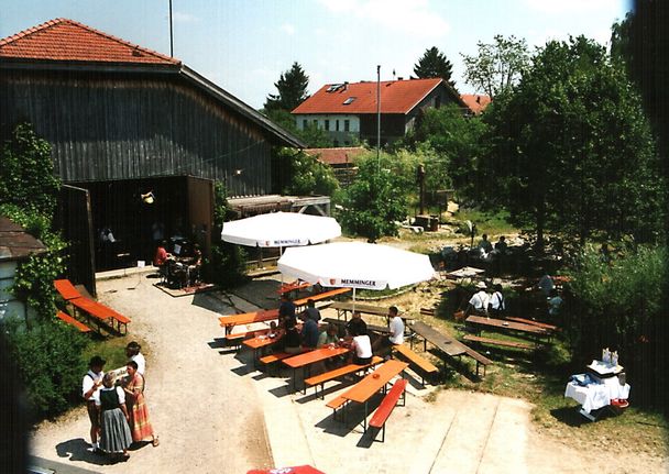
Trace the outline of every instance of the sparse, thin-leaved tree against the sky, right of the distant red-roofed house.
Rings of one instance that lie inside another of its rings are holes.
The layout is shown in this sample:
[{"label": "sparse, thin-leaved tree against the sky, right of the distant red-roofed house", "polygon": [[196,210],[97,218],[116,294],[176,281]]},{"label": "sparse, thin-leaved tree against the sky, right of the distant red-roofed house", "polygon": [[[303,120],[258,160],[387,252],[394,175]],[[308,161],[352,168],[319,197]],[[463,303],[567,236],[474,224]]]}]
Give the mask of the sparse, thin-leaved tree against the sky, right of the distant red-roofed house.
[{"label": "sparse, thin-leaved tree against the sky, right of the distant red-roofed house", "polygon": [[479,54],[462,54],[464,80],[483,90],[491,99],[516,84],[529,64],[525,38],[508,38],[497,34],[491,44],[478,43]]}]

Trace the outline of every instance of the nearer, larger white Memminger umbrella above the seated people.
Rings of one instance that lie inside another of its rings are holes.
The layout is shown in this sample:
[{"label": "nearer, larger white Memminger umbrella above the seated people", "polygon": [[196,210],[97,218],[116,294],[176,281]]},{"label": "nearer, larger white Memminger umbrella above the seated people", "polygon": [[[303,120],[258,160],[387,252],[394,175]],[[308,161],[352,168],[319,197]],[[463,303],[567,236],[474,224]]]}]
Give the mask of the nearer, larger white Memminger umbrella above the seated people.
[{"label": "nearer, larger white Memminger umbrella above the seated people", "polygon": [[353,288],[353,304],[357,288],[394,289],[435,274],[427,255],[362,242],[286,249],[278,269],[311,284]]}]

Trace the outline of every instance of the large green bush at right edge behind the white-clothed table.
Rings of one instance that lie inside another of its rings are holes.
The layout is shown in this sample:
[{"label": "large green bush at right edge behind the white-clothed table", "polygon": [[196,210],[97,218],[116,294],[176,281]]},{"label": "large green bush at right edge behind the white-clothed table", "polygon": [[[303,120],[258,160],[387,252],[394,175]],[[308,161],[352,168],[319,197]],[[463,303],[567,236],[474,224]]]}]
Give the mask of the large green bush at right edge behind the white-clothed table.
[{"label": "large green bush at right edge behind the white-clothed table", "polygon": [[635,400],[650,406],[667,404],[667,256],[663,247],[639,246],[611,258],[588,249],[570,272],[566,298],[574,363],[596,359],[603,348],[617,350],[621,364],[634,374]]}]

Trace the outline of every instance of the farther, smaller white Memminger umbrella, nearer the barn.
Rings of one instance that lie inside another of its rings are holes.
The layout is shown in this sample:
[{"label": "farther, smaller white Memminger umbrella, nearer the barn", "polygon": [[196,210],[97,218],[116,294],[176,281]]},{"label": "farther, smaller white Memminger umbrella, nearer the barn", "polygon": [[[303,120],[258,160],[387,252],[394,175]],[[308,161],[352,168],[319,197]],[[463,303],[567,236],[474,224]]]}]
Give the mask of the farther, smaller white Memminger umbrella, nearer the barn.
[{"label": "farther, smaller white Memminger umbrella, nearer the barn", "polygon": [[341,235],[332,219],[297,212],[272,212],[223,223],[226,242],[260,247],[284,247],[325,242]]}]

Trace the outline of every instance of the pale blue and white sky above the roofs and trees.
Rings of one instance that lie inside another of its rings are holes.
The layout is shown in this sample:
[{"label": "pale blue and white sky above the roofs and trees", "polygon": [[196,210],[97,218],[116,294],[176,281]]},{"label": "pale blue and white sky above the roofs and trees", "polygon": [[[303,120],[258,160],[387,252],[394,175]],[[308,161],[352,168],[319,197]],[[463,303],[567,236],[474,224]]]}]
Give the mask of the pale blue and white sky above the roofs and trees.
[{"label": "pale blue and white sky above the roofs and trees", "polygon": [[[584,34],[606,45],[627,0],[172,0],[174,56],[251,107],[299,63],[309,92],[325,84],[408,78],[429,47],[453,65],[479,42],[515,35],[530,47]],[[169,0],[2,0],[0,38],[67,18],[169,55]]]}]

